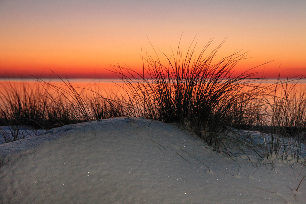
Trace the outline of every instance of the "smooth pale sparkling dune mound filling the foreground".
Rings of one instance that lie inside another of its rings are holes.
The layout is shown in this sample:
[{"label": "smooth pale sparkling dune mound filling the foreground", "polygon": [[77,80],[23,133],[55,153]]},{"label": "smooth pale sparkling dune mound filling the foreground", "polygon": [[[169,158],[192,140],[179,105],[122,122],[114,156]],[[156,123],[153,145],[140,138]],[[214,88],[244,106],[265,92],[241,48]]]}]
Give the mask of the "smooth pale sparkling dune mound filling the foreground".
[{"label": "smooth pale sparkling dune mound filling the foreground", "polygon": [[215,153],[175,124],[133,122],[90,121],[1,144],[0,202],[306,202],[306,179],[295,191],[306,173],[301,163],[254,167],[255,160]]}]

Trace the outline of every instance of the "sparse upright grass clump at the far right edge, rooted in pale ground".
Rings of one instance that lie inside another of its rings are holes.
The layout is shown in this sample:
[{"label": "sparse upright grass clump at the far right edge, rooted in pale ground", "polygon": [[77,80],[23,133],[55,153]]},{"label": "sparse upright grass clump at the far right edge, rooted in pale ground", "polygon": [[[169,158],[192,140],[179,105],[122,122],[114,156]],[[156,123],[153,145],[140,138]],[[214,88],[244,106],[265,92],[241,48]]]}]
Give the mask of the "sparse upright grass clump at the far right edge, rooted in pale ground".
[{"label": "sparse upright grass clump at the far right edge, rooted in pale ground", "polygon": [[[301,79],[281,80],[278,77],[272,98],[265,98],[265,109],[271,110],[266,114],[265,127],[268,128],[264,130],[270,135],[264,138],[267,159],[279,154],[287,162],[292,158],[299,161],[303,157],[301,143],[306,141],[306,94],[305,90],[295,89]],[[277,91],[281,94],[276,95]]]}]

